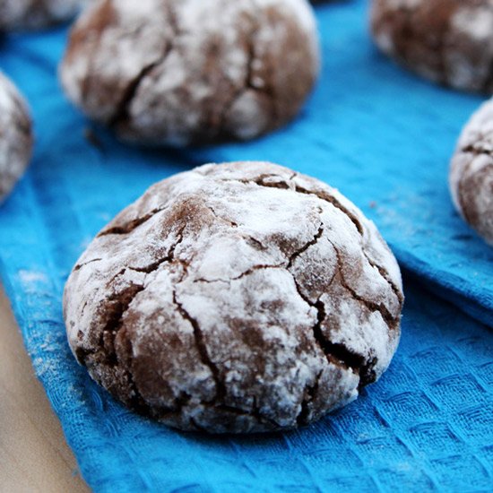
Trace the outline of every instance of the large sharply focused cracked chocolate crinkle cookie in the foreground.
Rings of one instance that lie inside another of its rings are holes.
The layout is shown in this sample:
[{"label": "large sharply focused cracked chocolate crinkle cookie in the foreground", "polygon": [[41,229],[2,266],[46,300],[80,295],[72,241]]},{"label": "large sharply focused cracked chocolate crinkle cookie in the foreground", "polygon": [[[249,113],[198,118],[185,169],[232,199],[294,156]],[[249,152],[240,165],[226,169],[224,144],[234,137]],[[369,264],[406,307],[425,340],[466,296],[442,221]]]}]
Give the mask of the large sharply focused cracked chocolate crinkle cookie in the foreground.
[{"label": "large sharply focused cracked chocolate crinkle cookie in the foreground", "polygon": [[151,186],[65,286],[74,355],[127,406],[184,430],[295,428],[388,367],[402,282],[330,186],[263,162]]}]

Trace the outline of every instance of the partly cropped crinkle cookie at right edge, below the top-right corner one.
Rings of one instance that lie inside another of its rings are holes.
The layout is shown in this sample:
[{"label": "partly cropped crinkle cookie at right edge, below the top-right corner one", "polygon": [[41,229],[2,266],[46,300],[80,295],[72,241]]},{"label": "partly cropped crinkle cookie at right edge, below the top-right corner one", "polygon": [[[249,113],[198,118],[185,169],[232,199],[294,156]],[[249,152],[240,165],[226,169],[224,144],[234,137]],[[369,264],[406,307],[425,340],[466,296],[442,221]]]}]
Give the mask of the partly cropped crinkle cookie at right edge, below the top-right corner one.
[{"label": "partly cropped crinkle cookie at right edge, below the top-right corner one", "polygon": [[457,210],[493,245],[493,99],[465,126],[450,169]]}]

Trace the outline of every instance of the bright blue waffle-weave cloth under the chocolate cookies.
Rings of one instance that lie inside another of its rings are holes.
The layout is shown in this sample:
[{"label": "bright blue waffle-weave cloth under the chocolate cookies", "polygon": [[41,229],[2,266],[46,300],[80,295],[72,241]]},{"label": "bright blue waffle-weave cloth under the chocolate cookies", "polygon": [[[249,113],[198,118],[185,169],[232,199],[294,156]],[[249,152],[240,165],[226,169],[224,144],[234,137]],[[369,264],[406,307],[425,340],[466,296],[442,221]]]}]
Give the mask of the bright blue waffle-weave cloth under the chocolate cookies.
[{"label": "bright blue waffle-weave cloth under the chocolate cookies", "polygon": [[[454,212],[446,185],[454,143],[480,98],[422,82],[377,55],[365,8],[317,7],[324,71],[295,123],[254,143],[193,151],[131,149],[102,129],[94,147],[56,82],[66,31],[2,41],[0,66],[30,100],[37,145],[0,208],[0,273],[95,491],[493,489],[493,333],[484,325],[493,323],[493,254]],[[376,385],[315,426],[186,435],[125,411],[76,365],[62,290],[94,234],[151,183],[206,161],[247,159],[320,177],[376,221],[410,273],[402,344]]]}]

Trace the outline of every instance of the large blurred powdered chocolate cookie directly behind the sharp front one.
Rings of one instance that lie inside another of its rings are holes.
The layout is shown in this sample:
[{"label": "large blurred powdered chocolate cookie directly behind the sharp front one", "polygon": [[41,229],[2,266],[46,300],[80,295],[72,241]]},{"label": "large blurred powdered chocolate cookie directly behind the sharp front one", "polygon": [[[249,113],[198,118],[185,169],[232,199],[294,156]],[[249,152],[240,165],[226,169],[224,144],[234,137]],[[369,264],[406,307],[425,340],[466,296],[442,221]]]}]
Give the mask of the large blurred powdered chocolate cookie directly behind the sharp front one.
[{"label": "large blurred powdered chocolate cookie directly behind the sharp front one", "polygon": [[61,78],[126,141],[247,140],[297,115],[316,32],[306,0],[103,0],[76,23]]}]

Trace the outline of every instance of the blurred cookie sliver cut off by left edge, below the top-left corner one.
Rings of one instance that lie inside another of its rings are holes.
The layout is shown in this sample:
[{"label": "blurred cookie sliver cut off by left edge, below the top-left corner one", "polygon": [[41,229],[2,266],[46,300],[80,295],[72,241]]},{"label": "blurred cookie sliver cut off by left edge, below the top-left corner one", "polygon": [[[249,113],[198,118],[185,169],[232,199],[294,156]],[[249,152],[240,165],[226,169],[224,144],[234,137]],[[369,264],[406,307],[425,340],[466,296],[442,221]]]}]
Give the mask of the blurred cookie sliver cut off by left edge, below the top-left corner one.
[{"label": "blurred cookie sliver cut off by left edge, below the top-left corner one", "polygon": [[0,202],[22,176],[31,153],[27,104],[13,83],[0,73]]}]

